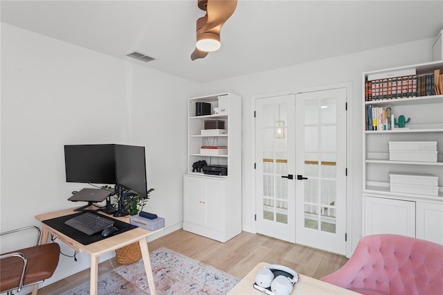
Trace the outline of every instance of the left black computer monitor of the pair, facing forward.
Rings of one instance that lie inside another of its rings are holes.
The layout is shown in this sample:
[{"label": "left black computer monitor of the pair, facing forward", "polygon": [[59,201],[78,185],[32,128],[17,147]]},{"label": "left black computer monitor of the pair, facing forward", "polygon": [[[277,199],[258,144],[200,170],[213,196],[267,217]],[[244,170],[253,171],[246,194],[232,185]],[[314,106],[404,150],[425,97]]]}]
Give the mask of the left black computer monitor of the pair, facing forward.
[{"label": "left black computer monitor of the pair, facing forward", "polygon": [[65,145],[66,182],[116,184],[114,144]]}]

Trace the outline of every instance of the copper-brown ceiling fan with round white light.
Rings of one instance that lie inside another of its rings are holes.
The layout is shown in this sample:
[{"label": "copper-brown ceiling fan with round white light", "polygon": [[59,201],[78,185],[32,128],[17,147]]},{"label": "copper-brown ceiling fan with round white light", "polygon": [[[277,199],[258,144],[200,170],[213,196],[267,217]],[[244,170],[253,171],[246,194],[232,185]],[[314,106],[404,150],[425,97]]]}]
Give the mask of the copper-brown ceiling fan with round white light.
[{"label": "copper-brown ceiling fan with round white light", "polygon": [[197,44],[191,60],[204,58],[220,48],[221,26],[233,15],[237,0],[197,0],[197,6],[206,15],[197,19]]}]

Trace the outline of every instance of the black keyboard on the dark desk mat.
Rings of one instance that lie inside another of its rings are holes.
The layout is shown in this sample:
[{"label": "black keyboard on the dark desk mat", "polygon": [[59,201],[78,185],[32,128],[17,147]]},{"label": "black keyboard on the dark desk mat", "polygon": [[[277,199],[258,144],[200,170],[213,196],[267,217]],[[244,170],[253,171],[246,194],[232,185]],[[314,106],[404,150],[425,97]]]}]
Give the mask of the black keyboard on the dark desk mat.
[{"label": "black keyboard on the dark desk mat", "polygon": [[86,233],[87,235],[93,235],[94,233],[98,233],[109,226],[113,226],[114,222],[105,217],[100,217],[93,213],[85,212],[71,218],[70,220],[66,220],[64,224],[67,224],[74,229],[81,231],[82,233]]}]

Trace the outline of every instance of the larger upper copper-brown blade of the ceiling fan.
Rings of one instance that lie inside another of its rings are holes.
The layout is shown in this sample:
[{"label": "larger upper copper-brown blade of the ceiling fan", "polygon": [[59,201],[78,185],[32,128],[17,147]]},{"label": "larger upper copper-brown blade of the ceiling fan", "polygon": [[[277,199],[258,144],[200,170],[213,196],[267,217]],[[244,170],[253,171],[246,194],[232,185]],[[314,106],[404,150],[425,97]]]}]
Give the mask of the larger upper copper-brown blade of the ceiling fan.
[{"label": "larger upper copper-brown blade of the ceiling fan", "polygon": [[221,26],[233,15],[237,7],[237,0],[208,0],[206,5],[206,24],[197,30],[199,33],[220,34]]}]

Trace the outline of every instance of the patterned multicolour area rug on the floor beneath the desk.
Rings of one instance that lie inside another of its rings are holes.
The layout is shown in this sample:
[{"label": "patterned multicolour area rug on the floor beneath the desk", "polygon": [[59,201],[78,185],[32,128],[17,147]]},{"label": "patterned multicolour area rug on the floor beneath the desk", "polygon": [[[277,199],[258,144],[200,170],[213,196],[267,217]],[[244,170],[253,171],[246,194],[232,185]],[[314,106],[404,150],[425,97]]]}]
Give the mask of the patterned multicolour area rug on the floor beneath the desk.
[{"label": "patterned multicolour area rug on the floor beneath the desk", "polygon": [[[150,253],[157,294],[227,294],[239,278],[167,248]],[[84,283],[66,295],[89,294]],[[98,277],[98,294],[150,294],[143,260]]]}]

